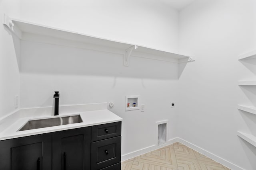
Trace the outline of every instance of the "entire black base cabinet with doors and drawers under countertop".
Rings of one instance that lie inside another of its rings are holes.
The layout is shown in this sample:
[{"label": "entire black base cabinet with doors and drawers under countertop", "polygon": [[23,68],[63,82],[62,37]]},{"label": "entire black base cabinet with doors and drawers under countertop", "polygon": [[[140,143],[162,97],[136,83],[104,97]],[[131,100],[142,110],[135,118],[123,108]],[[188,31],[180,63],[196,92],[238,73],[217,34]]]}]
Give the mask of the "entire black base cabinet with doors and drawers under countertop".
[{"label": "entire black base cabinet with doors and drawers under countertop", "polygon": [[0,170],[121,170],[121,122],[0,141]]}]

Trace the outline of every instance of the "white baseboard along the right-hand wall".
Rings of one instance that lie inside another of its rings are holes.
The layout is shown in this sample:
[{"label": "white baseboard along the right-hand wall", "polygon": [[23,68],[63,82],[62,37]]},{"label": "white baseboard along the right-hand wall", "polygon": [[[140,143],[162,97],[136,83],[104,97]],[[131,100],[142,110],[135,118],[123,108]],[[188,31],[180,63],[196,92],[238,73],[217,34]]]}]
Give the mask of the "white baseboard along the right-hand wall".
[{"label": "white baseboard along the right-hand wall", "polygon": [[186,145],[187,147],[190,147],[191,149],[194,149],[196,150],[197,152],[205,155],[205,156],[208,156],[209,158],[211,158],[212,160],[215,160],[216,162],[219,162],[220,164],[232,169],[232,170],[244,170],[243,168],[235,165],[235,164],[232,164],[231,162],[228,162],[227,160],[225,159],[222,159],[220,158],[219,156],[211,153],[211,152],[208,152],[207,150],[204,150],[192,143],[189,143],[188,141],[185,141],[184,139],[181,139],[181,138],[178,138],[178,142],[179,143],[182,143],[183,145]]}]

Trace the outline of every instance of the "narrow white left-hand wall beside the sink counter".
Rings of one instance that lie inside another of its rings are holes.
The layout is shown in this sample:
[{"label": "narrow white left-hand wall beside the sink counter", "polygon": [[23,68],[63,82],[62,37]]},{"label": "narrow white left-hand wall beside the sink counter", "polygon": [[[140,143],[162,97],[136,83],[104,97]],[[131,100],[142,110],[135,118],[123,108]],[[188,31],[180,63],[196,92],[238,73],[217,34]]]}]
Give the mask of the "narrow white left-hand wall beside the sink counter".
[{"label": "narrow white left-hand wall beside the sink counter", "polygon": [[[0,18],[3,13],[17,16],[20,12],[18,0],[0,0]],[[19,56],[16,56],[14,44],[19,50],[19,40],[12,38],[3,24],[0,26],[0,118],[14,111],[14,96],[20,93]]]}]

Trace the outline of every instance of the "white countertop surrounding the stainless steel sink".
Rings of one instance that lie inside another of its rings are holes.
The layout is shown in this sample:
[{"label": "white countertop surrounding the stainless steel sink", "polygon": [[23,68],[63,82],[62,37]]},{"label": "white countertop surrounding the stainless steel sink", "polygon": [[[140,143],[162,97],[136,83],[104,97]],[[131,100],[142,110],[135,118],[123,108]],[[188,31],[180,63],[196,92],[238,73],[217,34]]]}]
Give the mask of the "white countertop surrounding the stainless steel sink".
[{"label": "white countertop surrounding the stainless steel sink", "polygon": [[[25,125],[30,120],[62,117],[62,116],[69,116],[69,115],[80,115],[83,122],[73,123],[68,125],[59,125],[59,126],[53,126],[53,127],[44,127],[39,129],[31,129],[31,130],[25,130],[25,131],[18,131],[21,127],[23,127],[23,125]],[[54,132],[54,131],[62,131],[67,129],[79,128],[79,127],[100,125],[104,123],[112,123],[116,121],[122,121],[122,118],[112,113],[108,109],[83,111],[83,112],[75,112],[75,113],[62,113],[58,116],[44,115],[44,116],[36,116],[36,117],[34,116],[22,117],[17,119],[14,122],[11,122],[10,124],[8,124],[7,127],[4,128],[4,131],[0,133],[0,141],[5,139],[37,135],[42,133]]]}]

